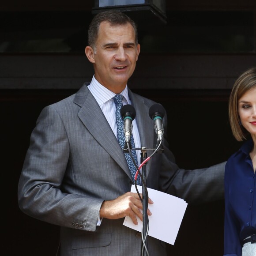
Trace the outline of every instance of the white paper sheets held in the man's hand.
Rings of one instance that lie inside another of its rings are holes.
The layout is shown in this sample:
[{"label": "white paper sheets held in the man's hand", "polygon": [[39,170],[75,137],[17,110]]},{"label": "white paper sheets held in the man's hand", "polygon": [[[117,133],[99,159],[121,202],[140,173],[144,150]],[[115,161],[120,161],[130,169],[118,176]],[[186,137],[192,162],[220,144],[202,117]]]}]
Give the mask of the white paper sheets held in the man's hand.
[{"label": "white paper sheets held in the man's hand", "polygon": [[[137,188],[142,193],[142,186],[137,186]],[[131,192],[137,192],[135,185],[132,185]],[[151,188],[147,188],[147,192],[154,202],[148,204],[152,213],[148,216],[148,235],[174,245],[188,203],[181,198]],[[130,217],[125,217],[123,225],[142,232],[143,222],[139,218],[137,220],[138,225],[134,225]]]}]

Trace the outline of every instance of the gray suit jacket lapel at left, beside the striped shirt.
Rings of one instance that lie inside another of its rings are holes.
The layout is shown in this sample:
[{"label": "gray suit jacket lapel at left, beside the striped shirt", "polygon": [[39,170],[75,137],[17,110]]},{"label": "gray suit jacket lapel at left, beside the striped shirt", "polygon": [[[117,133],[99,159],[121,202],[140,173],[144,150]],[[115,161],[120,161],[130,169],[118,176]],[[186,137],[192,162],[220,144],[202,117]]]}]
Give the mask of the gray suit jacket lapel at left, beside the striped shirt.
[{"label": "gray suit jacket lapel at left, beside the striped shirt", "polygon": [[87,85],[84,85],[75,95],[74,103],[79,105],[78,117],[94,139],[107,151],[117,164],[124,169],[132,179],[124,152],[117,141],[108,121],[106,120],[97,101],[90,93]]}]

